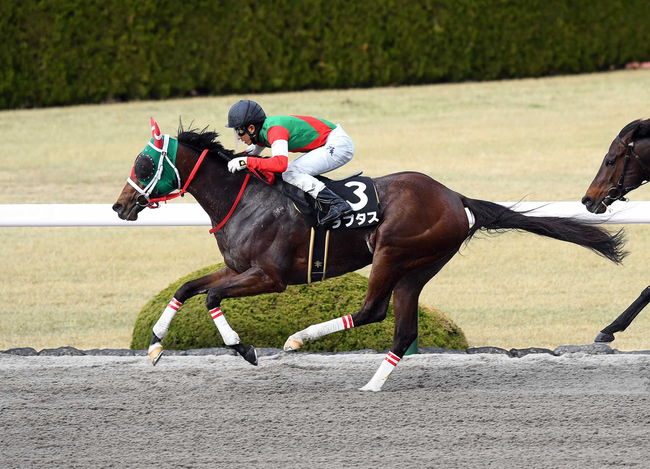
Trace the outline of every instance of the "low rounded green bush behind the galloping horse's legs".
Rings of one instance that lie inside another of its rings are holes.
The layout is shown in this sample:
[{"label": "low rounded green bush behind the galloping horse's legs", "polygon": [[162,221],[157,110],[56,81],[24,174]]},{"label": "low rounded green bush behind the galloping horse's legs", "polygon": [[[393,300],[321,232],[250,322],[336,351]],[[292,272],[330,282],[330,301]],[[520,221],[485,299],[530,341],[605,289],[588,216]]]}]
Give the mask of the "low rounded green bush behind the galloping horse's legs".
[{"label": "low rounded green bush behind the galloping horse's legs", "polygon": [[[183,283],[221,267],[223,264],[192,272],[154,296],[138,315],[131,348],[142,350],[149,346],[153,325]],[[284,293],[227,299],[222,307],[228,322],[244,343],[282,348],[287,337],[294,332],[356,312],[363,302],[367,286],[365,277],[352,273],[311,285],[290,286]],[[304,350],[386,350],[392,345],[393,327],[391,307],[387,318],[380,323],[331,334],[306,344]],[[465,335],[458,326],[439,311],[423,306],[419,309],[419,334],[421,347],[467,348]],[[206,309],[205,295],[185,302],[176,314],[163,345],[175,350],[224,346]]]}]

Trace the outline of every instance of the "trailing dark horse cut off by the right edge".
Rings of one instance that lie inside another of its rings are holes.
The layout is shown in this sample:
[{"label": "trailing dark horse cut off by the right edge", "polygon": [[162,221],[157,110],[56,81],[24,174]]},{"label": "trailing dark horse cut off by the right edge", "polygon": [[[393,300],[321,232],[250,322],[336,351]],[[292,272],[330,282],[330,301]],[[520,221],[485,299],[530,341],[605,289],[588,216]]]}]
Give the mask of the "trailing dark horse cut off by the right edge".
[{"label": "trailing dark horse cut off by the right edge", "polygon": [[[637,119],[621,129],[612,140],[598,173],[582,198],[591,213],[603,213],[613,202],[650,180],[650,119]],[[595,342],[609,343],[614,334],[627,329],[650,302],[650,286],[611,324],[601,330]]]}]

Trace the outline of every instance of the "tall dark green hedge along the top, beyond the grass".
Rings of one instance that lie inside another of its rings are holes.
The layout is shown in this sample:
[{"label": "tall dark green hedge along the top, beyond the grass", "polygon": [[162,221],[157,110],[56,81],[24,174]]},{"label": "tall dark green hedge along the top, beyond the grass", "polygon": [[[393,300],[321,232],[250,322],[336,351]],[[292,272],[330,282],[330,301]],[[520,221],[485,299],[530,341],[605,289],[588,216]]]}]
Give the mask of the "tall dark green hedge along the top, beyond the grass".
[{"label": "tall dark green hedge along the top, beyond the grass", "polygon": [[0,108],[650,60],[647,0],[3,0]]}]

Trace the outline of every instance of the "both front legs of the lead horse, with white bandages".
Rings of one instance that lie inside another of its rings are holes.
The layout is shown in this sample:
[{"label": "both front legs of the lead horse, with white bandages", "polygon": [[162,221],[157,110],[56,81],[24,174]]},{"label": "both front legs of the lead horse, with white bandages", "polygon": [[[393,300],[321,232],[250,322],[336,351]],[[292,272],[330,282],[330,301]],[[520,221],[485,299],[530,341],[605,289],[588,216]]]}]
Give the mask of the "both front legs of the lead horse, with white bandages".
[{"label": "both front legs of the lead horse, with white bandages", "polygon": [[189,298],[208,293],[206,305],[210,315],[219,330],[226,345],[233,347],[247,361],[257,364],[257,354],[252,346],[241,343],[237,333],[230,327],[221,311],[221,299],[225,297],[248,296],[259,293],[269,293],[284,290],[284,286],[259,268],[252,268],[238,274],[234,270],[224,267],[216,272],[205,275],[183,284],[174,294],[158,322],[153,327],[149,358],[155,365],[163,352],[162,339],[167,334],[169,325],[180,306]]}]

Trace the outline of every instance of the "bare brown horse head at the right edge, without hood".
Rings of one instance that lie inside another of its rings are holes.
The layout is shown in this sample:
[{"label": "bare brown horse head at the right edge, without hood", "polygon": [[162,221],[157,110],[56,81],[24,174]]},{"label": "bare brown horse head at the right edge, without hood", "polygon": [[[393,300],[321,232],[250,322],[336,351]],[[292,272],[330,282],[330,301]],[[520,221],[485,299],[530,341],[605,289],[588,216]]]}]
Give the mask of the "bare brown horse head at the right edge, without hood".
[{"label": "bare brown horse head at the right edge, without hood", "polygon": [[582,198],[591,213],[603,213],[616,200],[650,180],[650,119],[623,127]]}]

